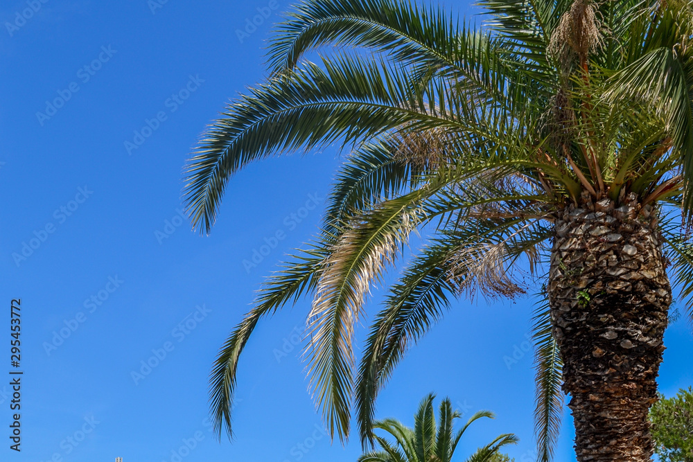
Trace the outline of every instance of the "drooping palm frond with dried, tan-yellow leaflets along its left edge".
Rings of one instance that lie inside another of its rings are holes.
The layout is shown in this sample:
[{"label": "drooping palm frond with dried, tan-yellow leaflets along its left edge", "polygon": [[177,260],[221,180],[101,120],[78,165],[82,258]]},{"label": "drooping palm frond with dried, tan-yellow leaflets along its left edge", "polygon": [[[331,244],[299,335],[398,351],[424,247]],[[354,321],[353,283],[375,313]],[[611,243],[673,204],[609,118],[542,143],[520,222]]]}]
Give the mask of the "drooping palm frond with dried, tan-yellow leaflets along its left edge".
[{"label": "drooping palm frond with dried, tan-yellow leaflets along its left edge", "polygon": [[353,386],[353,328],[371,285],[403,251],[418,224],[421,190],[382,202],[344,232],[324,263],[308,317],[308,371],[331,434],[347,438]]}]

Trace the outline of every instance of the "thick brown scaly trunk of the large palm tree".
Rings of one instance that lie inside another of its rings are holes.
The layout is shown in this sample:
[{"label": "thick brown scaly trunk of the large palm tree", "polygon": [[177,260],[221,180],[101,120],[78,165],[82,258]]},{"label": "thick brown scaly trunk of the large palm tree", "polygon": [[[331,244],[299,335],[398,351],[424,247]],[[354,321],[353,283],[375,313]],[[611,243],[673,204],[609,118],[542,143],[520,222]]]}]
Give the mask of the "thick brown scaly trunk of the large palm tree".
[{"label": "thick brown scaly trunk of the large palm tree", "polygon": [[584,199],[556,217],[549,285],[578,461],[651,461],[647,413],[672,289],[657,214]]}]

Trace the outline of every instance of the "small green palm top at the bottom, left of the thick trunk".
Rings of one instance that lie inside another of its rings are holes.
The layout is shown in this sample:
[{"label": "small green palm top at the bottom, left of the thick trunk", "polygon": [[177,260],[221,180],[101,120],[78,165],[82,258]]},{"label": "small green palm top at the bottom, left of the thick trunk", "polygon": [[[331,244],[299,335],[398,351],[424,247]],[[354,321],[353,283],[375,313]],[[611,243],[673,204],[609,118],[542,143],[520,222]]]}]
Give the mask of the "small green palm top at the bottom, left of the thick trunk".
[{"label": "small green palm top at the bottom, left of the thick trunk", "polygon": [[[455,419],[460,418],[458,411],[453,411],[450,400],[445,398],[440,403],[439,420],[435,420],[433,400],[435,395],[429,394],[421,400],[419,410],[414,414],[414,428],[406,427],[398,420],[388,418],[378,420],[374,427],[381,429],[394,438],[390,443],[381,436],[375,436],[380,450],[363,454],[358,462],[450,462],[455,448],[466,429],[475,420],[483,417],[493,418],[489,411],[479,411],[474,414],[459,431],[455,432]],[[501,455],[501,447],[516,444],[518,438],[513,434],[503,434],[491,443],[480,447],[467,462],[495,462]]]}]

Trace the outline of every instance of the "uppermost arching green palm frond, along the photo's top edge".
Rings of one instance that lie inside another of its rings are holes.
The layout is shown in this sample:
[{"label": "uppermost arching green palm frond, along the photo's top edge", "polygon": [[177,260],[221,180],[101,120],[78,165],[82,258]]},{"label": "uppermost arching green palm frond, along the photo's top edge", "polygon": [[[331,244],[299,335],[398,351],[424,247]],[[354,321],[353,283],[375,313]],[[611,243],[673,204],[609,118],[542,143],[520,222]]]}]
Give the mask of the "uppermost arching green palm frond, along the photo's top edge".
[{"label": "uppermost arching green palm frond, along the photo's top edge", "polygon": [[275,28],[268,58],[273,73],[281,73],[316,48],[362,46],[403,64],[455,69],[475,56],[466,39],[459,20],[441,8],[396,0],[314,0],[299,3]]}]

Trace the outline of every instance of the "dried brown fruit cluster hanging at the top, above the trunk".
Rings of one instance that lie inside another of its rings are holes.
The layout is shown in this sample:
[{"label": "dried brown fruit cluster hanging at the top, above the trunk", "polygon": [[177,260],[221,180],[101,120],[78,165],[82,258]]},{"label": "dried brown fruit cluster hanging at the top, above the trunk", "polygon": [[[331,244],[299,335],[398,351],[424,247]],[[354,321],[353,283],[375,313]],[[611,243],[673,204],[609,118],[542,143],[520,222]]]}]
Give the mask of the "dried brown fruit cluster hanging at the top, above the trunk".
[{"label": "dried brown fruit cluster hanging at the top, above the trunk", "polygon": [[602,46],[602,21],[590,0],[575,0],[563,13],[558,27],[551,35],[548,53],[569,66],[572,55],[580,62],[587,60],[590,51]]}]

